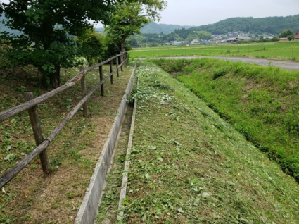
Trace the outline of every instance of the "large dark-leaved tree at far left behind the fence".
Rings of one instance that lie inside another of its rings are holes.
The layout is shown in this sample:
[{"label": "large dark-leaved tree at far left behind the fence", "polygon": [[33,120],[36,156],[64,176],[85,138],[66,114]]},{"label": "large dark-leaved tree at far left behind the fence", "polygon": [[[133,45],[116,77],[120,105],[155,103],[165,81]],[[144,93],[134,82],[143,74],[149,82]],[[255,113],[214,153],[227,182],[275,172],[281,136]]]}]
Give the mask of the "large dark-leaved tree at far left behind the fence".
[{"label": "large dark-leaved tree at far left behind the fence", "polygon": [[6,58],[20,65],[32,64],[42,73],[44,85],[60,85],[60,68],[74,66],[79,54],[74,36],[82,34],[88,20],[108,23],[114,0],[11,0],[1,7],[6,26],[20,35],[1,36],[11,48]]}]

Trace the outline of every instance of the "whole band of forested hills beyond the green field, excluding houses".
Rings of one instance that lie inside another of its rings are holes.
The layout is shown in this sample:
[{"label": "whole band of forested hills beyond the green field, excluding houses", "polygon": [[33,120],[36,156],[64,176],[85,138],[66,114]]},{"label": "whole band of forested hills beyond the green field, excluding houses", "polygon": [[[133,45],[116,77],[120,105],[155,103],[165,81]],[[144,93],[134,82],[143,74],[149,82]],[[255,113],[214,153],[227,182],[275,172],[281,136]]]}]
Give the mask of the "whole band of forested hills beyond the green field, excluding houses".
[{"label": "whole band of forested hills beyond the green field, excluding houses", "polygon": [[[132,47],[160,46],[171,41],[191,42],[193,39],[209,40],[212,35],[226,35],[229,32],[248,33],[251,42],[278,41],[285,30],[299,32],[299,15],[268,18],[229,18],[211,25],[176,29],[174,32],[141,33],[129,38]],[[263,34],[275,35],[274,39],[264,39]],[[286,36],[288,37],[288,35]],[[242,41],[241,41],[242,42]]]}]

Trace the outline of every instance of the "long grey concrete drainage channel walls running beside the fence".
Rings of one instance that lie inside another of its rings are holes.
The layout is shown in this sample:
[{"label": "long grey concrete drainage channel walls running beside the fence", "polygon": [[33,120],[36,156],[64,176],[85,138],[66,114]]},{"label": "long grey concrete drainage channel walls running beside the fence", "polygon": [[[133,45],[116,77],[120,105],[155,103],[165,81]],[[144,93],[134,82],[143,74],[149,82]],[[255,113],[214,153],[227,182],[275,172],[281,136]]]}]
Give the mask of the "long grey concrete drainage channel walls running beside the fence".
[{"label": "long grey concrete drainage channel walls running beside the fence", "polygon": [[[133,70],[133,73],[127,85],[125,95],[124,97],[122,97],[120,108],[114,120],[113,126],[111,127],[111,130],[109,132],[108,139],[104,144],[103,150],[101,152],[101,156],[98,158],[98,163],[96,163],[96,168],[94,168],[94,174],[91,177],[91,180],[89,182],[89,187],[87,187],[87,192],[84,196],[82,204],[77,213],[75,224],[95,223],[95,218],[98,213],[98,206],[100,206],[101,204],[103,190],[106,187],[106,177],[108,176],[110,172],[110,168],[113,163],[115,147],[118,138],[120,136],[122,121],[124,120],[125,112],[127,109],[127,95],[131,93],[134,75],[135,75],[135,69]],[[136,113],[136,102],[134,104],[134,108],[135,108],[134,111]],[[134,120],[132,121],[132,124],[134,127]],[[130,132],[130,136],[133,135],[132,127],[131,127],[131,132]],[[129,142],[131,142],[131,146],[132,146],[132,137],[130,139],[131,140],[129,140]],[[128,168],[128,164],[126,165],[126,167]],[[124,178],[126,178],[126,175],[124,175]],[[124,190],[126,189],[127,182],[125,181],[123,185],[124,187],[122,187],[122,197],[120,197],[121,199],[125,198]],[[122,215],[122,213],[120,215]]]}]

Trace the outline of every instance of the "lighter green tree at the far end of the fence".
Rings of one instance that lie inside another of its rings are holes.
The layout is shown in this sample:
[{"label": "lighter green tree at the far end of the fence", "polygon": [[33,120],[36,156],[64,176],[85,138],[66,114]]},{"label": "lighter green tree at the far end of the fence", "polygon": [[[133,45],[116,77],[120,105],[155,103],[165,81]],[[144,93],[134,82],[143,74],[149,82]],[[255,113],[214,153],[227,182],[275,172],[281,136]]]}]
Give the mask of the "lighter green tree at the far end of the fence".
[{"label": "lighter green tree at the far end of the fence", "polygon": [[130,35],[140,33],[140,28],[151,22],[160,20],[158,11],[165,9],[164,0],[131,0],[118,2],[116,11],[107,25],[106,32],[112,39],[120,38],[120,49],[125,51],[125,40]]}]

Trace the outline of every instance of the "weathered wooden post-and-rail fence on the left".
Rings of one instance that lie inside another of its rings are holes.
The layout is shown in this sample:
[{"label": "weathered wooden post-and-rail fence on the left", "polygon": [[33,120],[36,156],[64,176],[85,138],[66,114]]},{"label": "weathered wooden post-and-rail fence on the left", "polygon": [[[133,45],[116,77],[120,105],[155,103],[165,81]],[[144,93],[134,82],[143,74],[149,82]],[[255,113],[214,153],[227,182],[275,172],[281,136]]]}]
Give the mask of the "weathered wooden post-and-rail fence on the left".
[{"label": "weathered wooden post-and-rail fence on the left", "polygon": [[[116,59],[116,68],[113,70],[113,60]],[[119,64],[120,60],[120,64]],[[104,94],[104,88],[103,88],[103,83],[106,82],[110,78],[111,84],[113,84],[113,74],[116,72],[117,77],[119,77],[119,69],[123,71],[122,66],[125,64],[127,61],[127,51],[126,52],[121,52],[120,54],[117,54],[116,56],[109,58],[106,61],[99,61],[97,64],[94,66],[90,66],[89,68],[81,68],[79,74],[77,74],[75,77],[72,79],[68,80],[68,82],[65,83],[65,85],[62,85],[61,87],[58,87],[57,89],[53,89],[51,92],[47,92],[46,94],[43,94],[37,98],[33,98],[33,94],[31,92],[25,93],[25,103],[20,104],[18,106],[15,106],[13,108],[10,108],[6,111],[3,111],[0,113],[0,122],[11,118],[18,113],[21,113],[23,111],[28,111],[29,116],[30,116],[30,122],[32,124],[32,130],[34,134],[34,139],[37,144],[37,147],[33,149],[27,156],[22,158],[18,163],[13,166],[13,168],[9,169],[4,173],[4,175],[1,176],[0,178],[0,189],[1,187],[4,187],[15,175],[20,173],[25,166],[27,166],[30,161],[32,161],[37,155],[39,155],[41,164],[42,164],[42,170],[45,174],[48,174],[50,172],[50,163],[49,163],[49,158],[46,153],[46,147],[49,146],[51,141],[58,135],[59,132],[63,129],[63,127],[68,123],[70,118],[77,113],[79,108],[82,106],[83,107],[83,113],[84,117],[88,116],[88,110],[87,110],[87,99],[91,97],[91,94],[93,94],[96,89],[101,87],[101,95],[103,96]],[[103,65],[109,63],[110,66],[110,73],[107,75],[105,78],[103,78]],[[100,77],[100,82],[91,89],[89,93],[86,91],[86,82],[85,82],[85,73],[87,73],[90,70],[93,70],[94,68],[99,68],[99,77]],[[49,99],[56,94],[59,94],[63,92],[65,89],[68,89],[72,87],[72,85],[75,85],[75,83],[81,81],[81,87],[82,87],[82,99],[79,101],[79,103],[72,108],[72,111],[68,113],[65,118],[59,123],[50,133],[46,139],[44,139],[42,135],[42,128],[39,122],[39,117],[37,116],[37,105],[42,103],[43,101],[46,101],[46,99]]]}]

